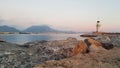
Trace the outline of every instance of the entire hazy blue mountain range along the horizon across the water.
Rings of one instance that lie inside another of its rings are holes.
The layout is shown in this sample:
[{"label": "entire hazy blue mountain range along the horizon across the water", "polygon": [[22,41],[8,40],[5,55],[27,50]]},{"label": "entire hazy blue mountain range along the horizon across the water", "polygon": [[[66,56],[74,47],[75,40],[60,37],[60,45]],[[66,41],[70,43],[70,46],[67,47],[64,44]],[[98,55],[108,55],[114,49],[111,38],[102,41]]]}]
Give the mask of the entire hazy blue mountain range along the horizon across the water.
[{"label": "entire hazy blue mountain range along the horizon across the water", "polygon": [[73,31],[61,31],[61,30],[56,30],[53,29],[47,25],[40,25],[40,26],[31,26],[23,31],[20,31],[14,27],[10,26],[0,26],[0,32],[33,32],[33,33],[45,33],[45,32],[58,32],[58,33],[75,33]]}]

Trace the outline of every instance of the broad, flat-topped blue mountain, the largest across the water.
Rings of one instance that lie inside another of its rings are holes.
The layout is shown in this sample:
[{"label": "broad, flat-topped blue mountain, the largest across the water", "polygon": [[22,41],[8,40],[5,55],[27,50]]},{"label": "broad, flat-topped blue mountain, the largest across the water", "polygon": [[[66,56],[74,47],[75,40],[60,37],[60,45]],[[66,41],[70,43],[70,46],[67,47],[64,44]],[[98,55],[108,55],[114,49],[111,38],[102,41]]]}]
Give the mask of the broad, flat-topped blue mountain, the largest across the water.
[{"label": "broad, flat-topped blue mountain, the largest across the water", "polygon": [[31,26],[26,30],[24,30],[24,32],[58,32],[58,31],[50,28],[47,25],[41,25],[41,26]]}]

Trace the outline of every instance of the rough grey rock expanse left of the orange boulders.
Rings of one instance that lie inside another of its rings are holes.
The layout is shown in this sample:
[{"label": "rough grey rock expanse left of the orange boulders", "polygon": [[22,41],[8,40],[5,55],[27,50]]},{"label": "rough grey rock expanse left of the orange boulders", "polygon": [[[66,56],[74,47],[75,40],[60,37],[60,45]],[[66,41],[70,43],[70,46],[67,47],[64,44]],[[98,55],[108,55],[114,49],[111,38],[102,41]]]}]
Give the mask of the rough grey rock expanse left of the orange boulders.
[{"label": "rough grey rock expanse left of the orange boulders", "polygon": [[37,41],[24,45],[0,43],[0,68],[33,68],[48,60],[60,60],[73,56],[76,38],[55,41]]}]

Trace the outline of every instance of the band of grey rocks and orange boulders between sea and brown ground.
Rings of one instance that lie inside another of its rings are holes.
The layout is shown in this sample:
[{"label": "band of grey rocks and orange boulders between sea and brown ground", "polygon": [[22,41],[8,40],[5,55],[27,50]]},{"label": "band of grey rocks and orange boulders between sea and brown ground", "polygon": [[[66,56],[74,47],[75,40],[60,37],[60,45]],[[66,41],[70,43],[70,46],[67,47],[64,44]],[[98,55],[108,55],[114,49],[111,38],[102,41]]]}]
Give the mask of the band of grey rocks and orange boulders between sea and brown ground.
[{"label": "band of grey rocks and orange boulders between sea and brown ground", "polygon": [[48,60],[61,60],[72,56],[105,51],[113,46],[101,43],[99,40],[89,38],[77,40],[36,41],[24,45],[0,42],[0,68],[33,68],[36,64]]}]

